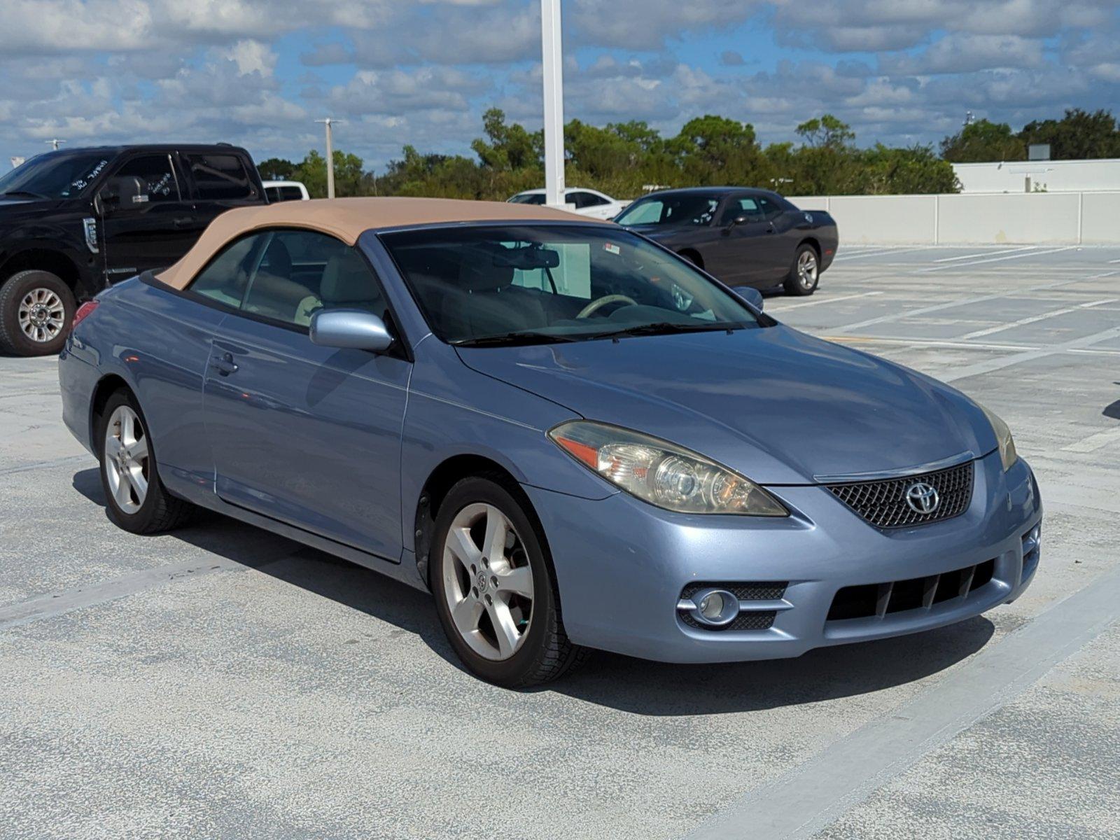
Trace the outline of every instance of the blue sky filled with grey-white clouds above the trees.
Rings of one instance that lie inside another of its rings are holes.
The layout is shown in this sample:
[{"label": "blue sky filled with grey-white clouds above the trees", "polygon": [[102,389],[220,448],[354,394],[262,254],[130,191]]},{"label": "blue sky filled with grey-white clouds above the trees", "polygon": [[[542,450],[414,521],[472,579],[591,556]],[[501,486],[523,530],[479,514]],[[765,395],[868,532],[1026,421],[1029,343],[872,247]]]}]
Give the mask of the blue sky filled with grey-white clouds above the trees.
[{"label": "blue sky filled with grey-white clouds above the trees", "polygon": [[[226,140],[301,158],[315,119],[383,167],[469,155],[482,112],[540,124],[538,0],[6,0],[0,160]],[[1120,0],[564,0],[566,116],[674,132],[719,113],[763,141],[832,112],[870,144],[1120,110]],[[2,167],[0,167],[2,168]]]}]

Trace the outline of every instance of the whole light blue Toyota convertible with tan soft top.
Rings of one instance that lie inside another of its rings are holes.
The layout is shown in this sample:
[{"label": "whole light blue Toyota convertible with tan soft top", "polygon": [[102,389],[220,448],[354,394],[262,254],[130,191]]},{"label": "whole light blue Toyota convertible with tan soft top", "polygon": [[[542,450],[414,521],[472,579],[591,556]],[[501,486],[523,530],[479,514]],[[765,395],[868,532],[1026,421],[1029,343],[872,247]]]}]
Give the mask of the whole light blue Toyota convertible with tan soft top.
[{"label": "whole light blue Toyota convertible with tan soft top", "polygon": [[796,656],[976,616],[1038,564],[1004,422],[531,205],[218,217],[85,304],[64,416],[137,533],[212,508],[431,590],[504,685],[588,648]]}]

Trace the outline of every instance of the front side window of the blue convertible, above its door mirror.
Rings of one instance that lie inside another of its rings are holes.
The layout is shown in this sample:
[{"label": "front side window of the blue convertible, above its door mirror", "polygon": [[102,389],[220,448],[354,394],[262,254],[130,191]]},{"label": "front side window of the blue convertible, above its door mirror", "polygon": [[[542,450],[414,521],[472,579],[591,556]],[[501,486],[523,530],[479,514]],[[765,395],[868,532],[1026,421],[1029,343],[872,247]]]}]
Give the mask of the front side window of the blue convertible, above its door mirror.
[{"label": "front side window of the blue convertible, above its door mirror", "polygon": [[385,317],[386,304],[362,255],[314,231],[273,231],[260,250],[242,309],[306,327],[320,309],[364,309]]}]

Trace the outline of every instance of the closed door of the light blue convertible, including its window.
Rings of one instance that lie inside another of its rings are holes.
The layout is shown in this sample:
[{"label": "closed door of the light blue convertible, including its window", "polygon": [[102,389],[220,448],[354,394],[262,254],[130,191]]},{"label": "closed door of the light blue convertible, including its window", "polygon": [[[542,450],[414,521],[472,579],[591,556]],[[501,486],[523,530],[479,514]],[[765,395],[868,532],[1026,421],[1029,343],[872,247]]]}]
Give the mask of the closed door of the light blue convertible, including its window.
[{"label": "closed door of the light blue convertible, including its window", "polygon": [[[360,252],[330,236],[284,230],[249,240],[235,269],[204,270],[192,286],[232,309],[214,337],[203,396],[216,492],[399,561],[411,363],[401,352],[320,347],[308,336],[319,309],[386,317],[381,286]],[[319,270],[293,253],[318,255]]]}]

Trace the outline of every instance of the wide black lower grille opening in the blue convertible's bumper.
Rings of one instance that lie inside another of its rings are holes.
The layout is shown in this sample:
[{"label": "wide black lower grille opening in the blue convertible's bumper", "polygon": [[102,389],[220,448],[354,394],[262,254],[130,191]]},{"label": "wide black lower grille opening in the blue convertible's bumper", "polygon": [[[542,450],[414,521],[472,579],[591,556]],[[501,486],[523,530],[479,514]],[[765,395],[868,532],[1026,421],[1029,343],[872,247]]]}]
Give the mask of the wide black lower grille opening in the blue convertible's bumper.
[{"label": "wide black lower grille opening in the blue convertible's bumper", "polygon": [[846,586],[832,598],[828,620],[883,618],[912,609],[930,609],[934,604],[968,598],[987,586],[995,573],[996,560],[992,559],[924,578]]}]

